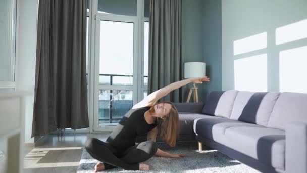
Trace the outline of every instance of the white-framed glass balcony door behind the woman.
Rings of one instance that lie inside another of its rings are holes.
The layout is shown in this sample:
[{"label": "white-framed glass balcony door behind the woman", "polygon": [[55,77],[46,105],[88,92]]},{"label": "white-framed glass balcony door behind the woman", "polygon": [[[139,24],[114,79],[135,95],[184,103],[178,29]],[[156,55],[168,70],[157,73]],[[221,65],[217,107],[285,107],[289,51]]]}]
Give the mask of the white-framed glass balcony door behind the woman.
[{"label": "white-framed glass balcony door behind the woman", "polygon": [[112,131],[137,101],[137,20],[97,16],[93,131]]}]

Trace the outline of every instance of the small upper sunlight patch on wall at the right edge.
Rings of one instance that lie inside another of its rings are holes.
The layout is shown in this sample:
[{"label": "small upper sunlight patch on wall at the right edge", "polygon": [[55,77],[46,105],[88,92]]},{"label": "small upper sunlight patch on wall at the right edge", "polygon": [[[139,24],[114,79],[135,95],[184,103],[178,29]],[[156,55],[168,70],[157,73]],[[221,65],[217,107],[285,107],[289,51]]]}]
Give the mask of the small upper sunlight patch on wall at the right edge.
[{"label": "small upper sunlight patch on wall at the right edge", "polygon": [[276,45],[303,38],[307,38],[307,20],[302,20],[276,29]]}]

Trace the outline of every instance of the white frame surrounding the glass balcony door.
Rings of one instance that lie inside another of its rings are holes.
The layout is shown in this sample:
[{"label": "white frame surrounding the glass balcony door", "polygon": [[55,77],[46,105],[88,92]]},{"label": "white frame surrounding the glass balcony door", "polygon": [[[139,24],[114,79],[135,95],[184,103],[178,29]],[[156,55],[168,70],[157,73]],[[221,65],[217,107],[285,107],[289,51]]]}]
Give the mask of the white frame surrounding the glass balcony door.
[{"label": "white frame surrounding the glass balcony door", "polygon": [[[140,102],[143,99],[143,42],[144,42],[144,21],[149,21],[149,18],[144,18],[144,0],[136,0],[136,16],[126,16],[126,15],[117,15],[117,14],[106,14],[98,13],[98,0],[91,1],[91,33],[89,42],[91,42],[92,47],[90,47],[91,55],[91,64],[90,71],[92,72],[90,76],[91,81],[91,92],[90,92],[90,132],[103,132],[103,131],[112,131],[115,126],[98,126],[98,92],[99,90],[133,90],[133,105]],[[133,59],[133,86],[116,86],[116,85],[99,85],[99,76],[96,74],[99,73],[99,69],[96,67],[98,65],[97,53],[99,52],[97,40],[97,25],[100,25],[99,20],[109,20],[109,21],[118,21],[118,22],[133,22],[134,23],[134,59]],[[136,68],[141,67],[141,68]],[[95,70],[95,71],[94,71]],[[136,90],[137,88],[137,90]]]}]

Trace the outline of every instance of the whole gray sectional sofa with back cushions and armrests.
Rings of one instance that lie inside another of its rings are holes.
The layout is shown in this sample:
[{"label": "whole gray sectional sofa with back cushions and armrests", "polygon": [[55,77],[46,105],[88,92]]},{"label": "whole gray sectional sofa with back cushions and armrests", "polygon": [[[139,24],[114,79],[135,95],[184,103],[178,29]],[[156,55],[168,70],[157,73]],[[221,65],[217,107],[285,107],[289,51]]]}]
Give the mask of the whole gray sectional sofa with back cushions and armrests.
[{"label": "whole gray sectional sofa with back cushions and armrests", "polygon": [[176,103],[179,140],[202,145],[261,172],[307,172],[307,94],[212,92],[203,103]]}]

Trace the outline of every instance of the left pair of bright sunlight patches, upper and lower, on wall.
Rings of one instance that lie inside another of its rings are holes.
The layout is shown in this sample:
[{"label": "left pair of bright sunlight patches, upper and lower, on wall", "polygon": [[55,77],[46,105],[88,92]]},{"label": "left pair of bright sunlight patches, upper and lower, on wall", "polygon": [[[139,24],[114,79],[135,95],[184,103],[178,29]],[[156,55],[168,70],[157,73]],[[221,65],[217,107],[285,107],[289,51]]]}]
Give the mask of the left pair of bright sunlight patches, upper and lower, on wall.
[{"label": "left pair of bright sunlight patches, upper and lower, on wall", "polygon": [[[267,48],[267,32],[262,32],[233,42],[234,57]],[[240,91],[266,92],[267,54],[234,60],[234,86]]]}]

